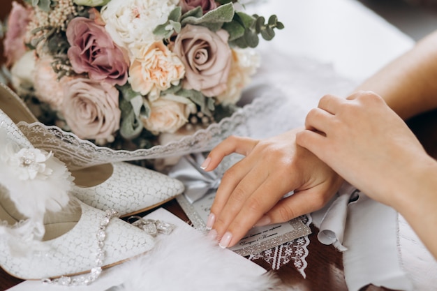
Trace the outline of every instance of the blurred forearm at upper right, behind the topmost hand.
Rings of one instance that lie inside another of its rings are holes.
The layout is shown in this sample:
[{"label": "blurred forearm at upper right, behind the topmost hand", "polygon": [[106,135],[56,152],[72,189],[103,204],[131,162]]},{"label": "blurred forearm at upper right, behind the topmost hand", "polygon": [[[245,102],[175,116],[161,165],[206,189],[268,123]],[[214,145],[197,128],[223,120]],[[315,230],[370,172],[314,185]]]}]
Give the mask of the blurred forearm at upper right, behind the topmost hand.
[{"label": "blurred forearm at upper right, behind the topmost hand", "polygon": [[376,92],[404,120],[437,108],[437,31],[363,82],[358,90]]}]

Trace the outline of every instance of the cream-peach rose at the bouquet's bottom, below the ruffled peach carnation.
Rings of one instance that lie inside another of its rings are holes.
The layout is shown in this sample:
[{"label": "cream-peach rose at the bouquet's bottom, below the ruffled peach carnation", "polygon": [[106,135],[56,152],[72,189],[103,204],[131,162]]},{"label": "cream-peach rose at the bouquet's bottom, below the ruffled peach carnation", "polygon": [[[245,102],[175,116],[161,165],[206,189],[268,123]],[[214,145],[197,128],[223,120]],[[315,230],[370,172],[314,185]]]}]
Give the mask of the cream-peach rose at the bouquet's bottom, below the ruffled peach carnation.
[{"label": "cream-peach rose at the bouquet's bottom, below the ruffled peach carnation", "polygon": [[168,94],[149,103],[150,116],[141,117],[142,124],[154,135],[175,133],[188,122],[195,105],[185,97]]}]

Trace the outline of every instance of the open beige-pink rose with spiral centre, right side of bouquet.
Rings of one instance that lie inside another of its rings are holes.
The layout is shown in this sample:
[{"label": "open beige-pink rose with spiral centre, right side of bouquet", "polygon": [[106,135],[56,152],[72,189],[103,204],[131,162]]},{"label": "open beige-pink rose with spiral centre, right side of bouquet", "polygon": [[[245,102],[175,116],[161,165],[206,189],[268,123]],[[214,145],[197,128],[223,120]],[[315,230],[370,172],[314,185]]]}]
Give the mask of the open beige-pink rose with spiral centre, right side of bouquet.
[{"label": "open beige-pink rose with spiral centre, right side of bouquet", "polygon": [[229,34],[206,27],[186,25],[175,40],[175,53],[185,65],[185,89],[201,91],[208,97],[226,89],[230,70]]}]

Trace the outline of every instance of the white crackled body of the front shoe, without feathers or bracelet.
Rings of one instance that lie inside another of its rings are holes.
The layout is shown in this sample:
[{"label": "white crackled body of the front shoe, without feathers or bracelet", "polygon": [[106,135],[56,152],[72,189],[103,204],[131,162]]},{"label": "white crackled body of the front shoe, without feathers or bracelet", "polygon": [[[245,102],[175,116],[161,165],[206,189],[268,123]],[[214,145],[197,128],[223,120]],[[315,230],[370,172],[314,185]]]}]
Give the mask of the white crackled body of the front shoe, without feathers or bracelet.
[{"label": "white crackled body of the front shoe, without feathers or bracelet", "polygon": [[[58,227],[71,223],[75,223],[75,226],[60,237],[43,241],[43,248],[38,251],[25,256],[13,255],[5,251],[7,246],[1,241],[1,267],[12,276],[26,280],[57,278],[100,271],[100,268],[111,267],[153,248],[153,237],[119,218],[110,219],[106,230],[102,232],[101,223],[108,219],[105,218],[105,212],[79,200],[76,200],[76,204],[79,204],[81,213],[79,221],[57,223]],[[98,246],[99,239],[103,241],[101,249]],[[89,278],[84,276],[83,280],[86,279]]]}]

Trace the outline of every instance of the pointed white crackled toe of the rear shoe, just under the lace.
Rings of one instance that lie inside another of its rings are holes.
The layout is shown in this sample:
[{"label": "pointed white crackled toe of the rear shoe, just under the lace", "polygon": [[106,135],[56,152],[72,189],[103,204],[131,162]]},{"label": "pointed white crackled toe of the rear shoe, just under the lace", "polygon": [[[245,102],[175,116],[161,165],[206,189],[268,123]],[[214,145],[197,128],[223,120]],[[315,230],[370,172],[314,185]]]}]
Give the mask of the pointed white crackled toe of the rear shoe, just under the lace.
[{"label": "pointed white crackled toe of the rear shoe, just under the lace", "polygon": [[97,209],[115,209],[122,217],[157,207],[184,191],[177,179],[124,162],[72,174],[77,198]]}]

